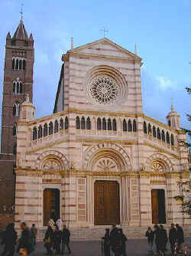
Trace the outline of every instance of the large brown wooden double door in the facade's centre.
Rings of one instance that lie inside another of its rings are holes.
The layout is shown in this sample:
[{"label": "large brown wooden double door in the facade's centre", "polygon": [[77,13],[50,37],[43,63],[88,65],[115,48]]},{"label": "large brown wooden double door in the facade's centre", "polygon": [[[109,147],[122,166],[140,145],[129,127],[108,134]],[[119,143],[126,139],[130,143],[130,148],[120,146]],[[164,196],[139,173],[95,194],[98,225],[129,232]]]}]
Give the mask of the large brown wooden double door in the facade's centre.
[{"label": "large brown wooden double door in the facade's centre", "polygon": [[112,225],[120,223],[118,182],[95,182],[94,199],[95,225]]}]

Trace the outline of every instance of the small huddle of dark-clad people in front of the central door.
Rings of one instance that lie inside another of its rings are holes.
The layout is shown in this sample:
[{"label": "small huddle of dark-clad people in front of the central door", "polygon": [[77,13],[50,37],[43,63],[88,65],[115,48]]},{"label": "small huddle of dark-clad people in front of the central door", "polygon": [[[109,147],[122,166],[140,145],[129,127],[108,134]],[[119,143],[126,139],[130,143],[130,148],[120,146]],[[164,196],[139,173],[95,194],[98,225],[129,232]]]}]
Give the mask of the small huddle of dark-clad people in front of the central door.
[{"label": "small huddle of dark-clad people in front of the central door", "polygon": [[116,225],[112,225],[112,230],[109,232],[109,228],[105,229],[105,236],[102,238],[103,251],[105,256],[111,255],[111,250],[115,256],[126,255],[126,238],[122,228],[117,228]]}]

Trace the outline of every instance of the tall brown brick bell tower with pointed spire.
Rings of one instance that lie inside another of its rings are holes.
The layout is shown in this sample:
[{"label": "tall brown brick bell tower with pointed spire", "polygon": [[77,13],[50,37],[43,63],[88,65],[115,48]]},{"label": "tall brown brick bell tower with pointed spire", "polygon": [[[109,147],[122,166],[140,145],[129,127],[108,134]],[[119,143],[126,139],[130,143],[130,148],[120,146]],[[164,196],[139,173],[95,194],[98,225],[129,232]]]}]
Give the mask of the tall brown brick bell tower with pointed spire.
[{"label": "tall brown brick bell tower with pointed spire", "polygon": [[5,45],[5,70],[2,102],[1,152],[15,154],[17,122],[26,94],[33,98],[34,40],[24,28],[23,19]]}]

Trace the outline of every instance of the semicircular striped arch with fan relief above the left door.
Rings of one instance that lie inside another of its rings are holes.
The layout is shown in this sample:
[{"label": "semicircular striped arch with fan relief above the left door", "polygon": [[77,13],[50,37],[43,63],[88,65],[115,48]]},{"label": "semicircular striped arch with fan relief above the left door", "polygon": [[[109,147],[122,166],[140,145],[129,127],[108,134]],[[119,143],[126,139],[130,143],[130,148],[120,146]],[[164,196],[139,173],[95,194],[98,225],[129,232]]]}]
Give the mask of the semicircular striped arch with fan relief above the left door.
[{"label": "semicircular striped arch with fan relief above the left door", "polygon": [[66,170],[68,166],[68,161],[66,156],[57,150],[48,150],[42,153],[36,162],[36,169],[51,169],[51,167],[59,170]]}]

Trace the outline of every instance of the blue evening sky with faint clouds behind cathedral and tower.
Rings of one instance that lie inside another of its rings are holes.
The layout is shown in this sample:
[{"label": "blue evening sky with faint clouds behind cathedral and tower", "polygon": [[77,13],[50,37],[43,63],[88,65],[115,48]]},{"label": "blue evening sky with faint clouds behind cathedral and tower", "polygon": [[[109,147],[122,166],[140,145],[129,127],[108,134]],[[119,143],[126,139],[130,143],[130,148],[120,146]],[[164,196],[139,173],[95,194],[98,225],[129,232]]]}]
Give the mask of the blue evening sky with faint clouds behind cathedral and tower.
[{"label": "blue evening sky with faint clouds behind cathedral and tower", "polygon": [[144,113],[167,123],[173,98],[181,125],[191,98],[191,0],[0,0],[0,100],[2,105],[5,38],[24,26],[34,37],[34,106],[36,117],[53,113],[61,56],[74,47],[105,37],[143,59],[141,85]]}]

